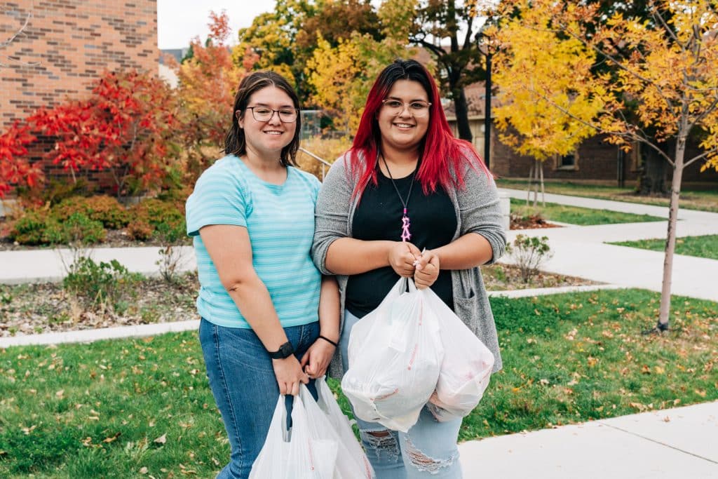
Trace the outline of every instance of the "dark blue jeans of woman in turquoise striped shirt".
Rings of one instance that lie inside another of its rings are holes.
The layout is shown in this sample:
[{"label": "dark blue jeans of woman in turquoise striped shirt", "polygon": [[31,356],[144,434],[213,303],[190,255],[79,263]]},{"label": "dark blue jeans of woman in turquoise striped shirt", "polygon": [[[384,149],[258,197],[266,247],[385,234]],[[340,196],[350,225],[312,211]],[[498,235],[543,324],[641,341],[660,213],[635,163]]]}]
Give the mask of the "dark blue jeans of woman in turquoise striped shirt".
[{"label": "dark blue jeans of woman in turquoise striped shirt", "polygon": [[[284,331],[301,359],[319,336],[319,322],[285,327]],[[232,448],[229,464],[217,477],[246,479],[264,445],[279,398],[271,358],[253,330],[217,326],[204,318],[200,322],[200,344],[210,389]],[[309,381],[309,391],[316,399],[314,381]],[[286,396],[286,404],[289,420],[292,396]]]}]

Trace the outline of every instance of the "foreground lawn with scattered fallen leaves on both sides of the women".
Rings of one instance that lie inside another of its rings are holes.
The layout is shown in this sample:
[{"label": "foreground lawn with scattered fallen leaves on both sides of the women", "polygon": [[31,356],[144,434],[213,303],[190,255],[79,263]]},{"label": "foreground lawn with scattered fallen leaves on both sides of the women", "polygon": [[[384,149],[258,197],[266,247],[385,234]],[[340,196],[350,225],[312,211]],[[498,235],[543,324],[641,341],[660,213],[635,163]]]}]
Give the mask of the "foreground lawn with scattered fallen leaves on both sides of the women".
[{"label": "foreground lawn with scattered fallen leaves on both sides of the women", "polygon": [[[653,292],[491,302],[505,366],[462,441],[718,399],[718,303],[674,297],[674,329],[644,336]],[[228,457],[196,332],[2,349],[0,389],[4,478],[213,477]]]}]

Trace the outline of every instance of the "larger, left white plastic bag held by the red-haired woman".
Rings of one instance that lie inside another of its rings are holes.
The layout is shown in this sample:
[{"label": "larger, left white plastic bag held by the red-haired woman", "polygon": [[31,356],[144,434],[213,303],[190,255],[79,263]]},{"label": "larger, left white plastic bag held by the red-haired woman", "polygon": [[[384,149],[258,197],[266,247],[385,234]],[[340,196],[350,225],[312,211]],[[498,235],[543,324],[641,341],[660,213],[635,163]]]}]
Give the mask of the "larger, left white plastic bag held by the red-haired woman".
[{"label": "larger, left white plastic bag held by the red-haired woman", "polygon": [[416,423],[437,386],[444,355],[438,332],[414,281],[399,279],[350,335],[342,391],[357,417],[402,432]]}]

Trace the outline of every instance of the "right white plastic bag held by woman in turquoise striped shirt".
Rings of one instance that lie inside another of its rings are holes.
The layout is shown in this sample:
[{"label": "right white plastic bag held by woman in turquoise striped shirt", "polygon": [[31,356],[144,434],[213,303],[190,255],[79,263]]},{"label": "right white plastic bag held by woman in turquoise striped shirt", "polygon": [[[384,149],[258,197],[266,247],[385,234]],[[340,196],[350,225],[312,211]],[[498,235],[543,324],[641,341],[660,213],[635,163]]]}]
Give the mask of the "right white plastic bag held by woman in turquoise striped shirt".
[{"label": "right white plastic bag held by woman in turquoise striped shirt", "polygon": [[372,479],[374,471],[369,460],[324,377],[317,379],[315,384],[318,401],[314,401],[309,389],[304,385],[299,386],[299,396],[307,409],[310,434],[320,439],[336,441],[338,444],[334,479]]}]

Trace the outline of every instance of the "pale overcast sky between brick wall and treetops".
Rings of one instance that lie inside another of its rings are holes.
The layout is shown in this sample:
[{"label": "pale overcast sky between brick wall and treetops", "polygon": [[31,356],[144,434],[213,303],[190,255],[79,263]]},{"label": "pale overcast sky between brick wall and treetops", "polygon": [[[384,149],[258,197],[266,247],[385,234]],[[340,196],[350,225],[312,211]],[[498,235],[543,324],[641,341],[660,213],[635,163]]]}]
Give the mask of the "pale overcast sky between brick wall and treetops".
[{"label": "pale overcast sky between brick wall and treetops", "polygon": [[[210,11],[227,11],[236,42],[237,30],[249,27],[258,14],[274,10],[274,0],[157,0],[157,43],[162,50],[189,47],[193,37],[209,33]],[[233,43],[232,42],[232,43]]]}]

